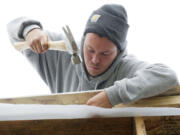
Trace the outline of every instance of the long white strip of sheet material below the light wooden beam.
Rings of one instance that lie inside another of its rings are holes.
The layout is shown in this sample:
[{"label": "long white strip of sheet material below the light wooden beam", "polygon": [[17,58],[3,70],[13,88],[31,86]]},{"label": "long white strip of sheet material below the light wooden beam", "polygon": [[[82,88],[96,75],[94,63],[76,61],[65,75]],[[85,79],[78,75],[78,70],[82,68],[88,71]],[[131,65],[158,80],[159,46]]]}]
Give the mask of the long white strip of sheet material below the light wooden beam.
[{"label": "long white strip of sheet material below the light wooden beam", "polygon": [[87,105],[25,105],[0,103],[0,121],[174,115],[180,115],[180,108],[128,107],[105,109]]}]

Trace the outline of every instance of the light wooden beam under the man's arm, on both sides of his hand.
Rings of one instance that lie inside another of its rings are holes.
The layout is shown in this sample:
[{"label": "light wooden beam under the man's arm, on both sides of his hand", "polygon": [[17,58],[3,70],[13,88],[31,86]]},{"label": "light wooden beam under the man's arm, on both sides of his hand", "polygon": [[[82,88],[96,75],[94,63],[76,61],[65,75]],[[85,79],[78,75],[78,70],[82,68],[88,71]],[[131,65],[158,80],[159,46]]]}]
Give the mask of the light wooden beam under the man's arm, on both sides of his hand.
[{"label": "light wooden beam under the man's arm, on both sides of his hand", "polygon": [[[89,98],[93,97],[99,92],[102,92],[102,90],[52,94],[52,95],[33,96],[33,97],[7,98],[7,99],[0,99],[0,103],[61,104],[61,105],[86,104]],[[167,92],[159,96],[141,99],[131,104],[119,104],[116,105],[115,107],[180,107],[180,86],[176,86],[173,89],[168,90]]]}]

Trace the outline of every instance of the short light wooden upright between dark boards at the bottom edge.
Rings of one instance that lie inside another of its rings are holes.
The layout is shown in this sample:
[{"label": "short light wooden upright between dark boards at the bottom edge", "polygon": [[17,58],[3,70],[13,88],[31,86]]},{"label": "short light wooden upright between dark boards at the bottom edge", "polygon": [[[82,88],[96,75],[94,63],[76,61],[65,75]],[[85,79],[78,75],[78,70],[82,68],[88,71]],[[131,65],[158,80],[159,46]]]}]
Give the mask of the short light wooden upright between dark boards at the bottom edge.
[{"label": "short light wooden upright between dark boards at the bottom edge", "polygon": [[136,127],[136,135],[147,135],[144,119],[142,117],[135,117],[134,121]]}]

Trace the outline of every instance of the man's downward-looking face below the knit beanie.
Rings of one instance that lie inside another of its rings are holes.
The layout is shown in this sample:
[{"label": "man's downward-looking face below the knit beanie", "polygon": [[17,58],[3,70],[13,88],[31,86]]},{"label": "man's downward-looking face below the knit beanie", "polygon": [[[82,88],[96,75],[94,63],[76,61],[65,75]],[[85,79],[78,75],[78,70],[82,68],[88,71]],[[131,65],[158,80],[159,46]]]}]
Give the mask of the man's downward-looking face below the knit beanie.
[{"label": "man's downward-looking face below the knit beanie", "polygon": [[87,33],[84,41],[84,60],[87,72],[95,77],[104,73],[113,63],[119,50],[106,37]]}]

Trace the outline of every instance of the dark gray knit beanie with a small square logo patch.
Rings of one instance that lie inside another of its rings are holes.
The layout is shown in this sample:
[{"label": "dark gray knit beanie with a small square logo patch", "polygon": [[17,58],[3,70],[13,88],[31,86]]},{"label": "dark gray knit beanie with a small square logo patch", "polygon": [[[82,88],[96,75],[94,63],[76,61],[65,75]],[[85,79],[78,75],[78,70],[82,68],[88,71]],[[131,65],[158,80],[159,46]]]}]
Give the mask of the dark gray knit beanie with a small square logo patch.
[{"label": "dark gray knit beanie with a small square logo patch", "polygon": [[87,33],[96,33],[99,36],[107,37],[123,51],[126,48],[128,27],[127,13],[123,6],[116,4],[103,5],[89,17],[84,36]]}]

